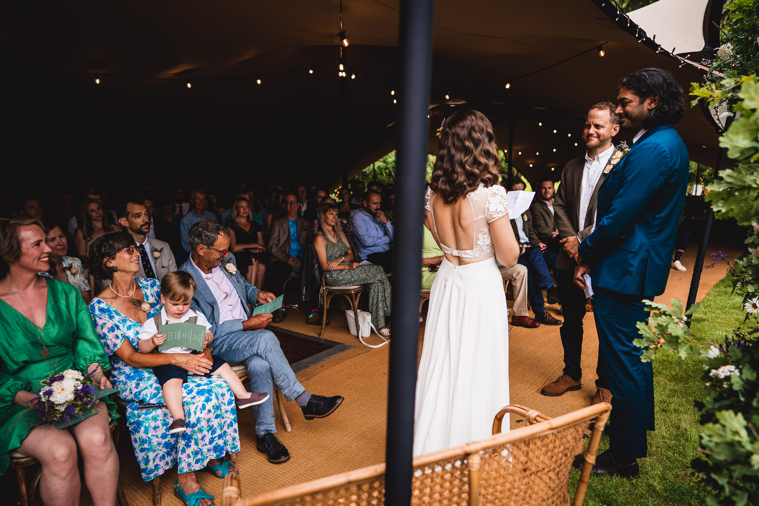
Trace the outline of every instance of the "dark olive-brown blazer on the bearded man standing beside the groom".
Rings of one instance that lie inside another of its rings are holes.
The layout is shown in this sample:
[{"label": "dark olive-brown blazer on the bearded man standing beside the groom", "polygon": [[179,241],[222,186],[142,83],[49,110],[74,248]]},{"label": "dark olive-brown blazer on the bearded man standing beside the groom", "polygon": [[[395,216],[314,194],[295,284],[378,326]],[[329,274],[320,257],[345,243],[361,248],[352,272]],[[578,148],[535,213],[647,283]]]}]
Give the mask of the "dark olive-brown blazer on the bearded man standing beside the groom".
[{"label": "dark olive-brown blazer on the bearded man standing beside the groom", "polygon": [[[616,149],[615,149],[616,152]],[[581,156],[570,160],[562,169],[562,179],[559,184],[559,190],[553,199],[553,220],[556,223],[556,230],[559,231],[559,239],[565,237],[577,236],[580,242],[591,234],[593,228],[593,219],[596,215],[596,204],[598,199],[598,189],[606,178],[606,174],[601,172],[598,183],[593,190],[591,202],[587,206],[587,215],[585,221],[579,222],[580,214],[580,197],[582,185],[582,172],[585,169],[585,157]],[[577,266],[575,259],[569,257],[567,252],[562,248],[559,252],[559,269],[574,269]]]}]

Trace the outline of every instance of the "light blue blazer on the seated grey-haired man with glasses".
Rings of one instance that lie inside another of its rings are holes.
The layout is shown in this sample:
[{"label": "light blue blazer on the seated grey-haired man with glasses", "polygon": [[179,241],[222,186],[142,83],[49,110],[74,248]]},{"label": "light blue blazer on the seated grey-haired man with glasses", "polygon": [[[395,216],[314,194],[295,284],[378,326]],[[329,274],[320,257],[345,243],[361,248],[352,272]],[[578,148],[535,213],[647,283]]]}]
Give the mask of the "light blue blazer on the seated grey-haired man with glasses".
[{"label": "light blue blazer on the seated grey-haired man with glasses", "polygon": [[[224,262],[226,262],[226,260],[228,260],[233,266],[237,267],[234,255],[227,253]],[[211,324],[211,333],[214,338],[220,338],[224,335],[231,334],[232,332],[240,332],[242,330],[241,320],[227,320],[226,322],[219,323],[219,319],[221,319],[219,303],[216,302],[216,297],[213,297],[211,289],[208,288],[208,284],[206,283],[206,279],[203,278],[203,274],[193,265],[191,260],[184,262],[179,270],[189,272],[194,278],[195,284],[197,284],[197,290],[192,297],[190,307],[195,311],[203,313],[203,316],[206,316],[206,319],[208,319],[208,322]],[[222,272],[224,272],[227,278],[232,282],[232,285],[237,291],[238,297],[240,297],[240,303],[245,310],[245,314],[250,317],[250,310],[247,309],[247,303],[250,303],[251,306],[257,306],[256,295],[258,294],[258,288],[248,284],[239,270],[235,272],[235,274],[229,274],[228,270],[222,265]]]}]

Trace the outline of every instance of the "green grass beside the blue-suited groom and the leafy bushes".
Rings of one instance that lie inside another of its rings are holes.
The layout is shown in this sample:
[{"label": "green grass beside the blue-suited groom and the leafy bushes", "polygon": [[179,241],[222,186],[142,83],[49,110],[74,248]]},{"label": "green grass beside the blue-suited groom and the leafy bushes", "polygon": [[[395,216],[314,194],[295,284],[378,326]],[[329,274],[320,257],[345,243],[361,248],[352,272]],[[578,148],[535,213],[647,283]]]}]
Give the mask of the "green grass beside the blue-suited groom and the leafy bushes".
[{"label": "green grass beside the blue-suited groom and the leafy bushes", "polygon": [[[732,284],[723,279],[709,291],[698,316],[707,322],[694,323],[696,335],[719,344],[726,334],[741,325],[745,315],[741,298],[733,294]],[[666,301],[669,303],[669,301]],[[653,391],[656,431],[648,433],[648,457],[638,459],[641,474],[636,479],[591,476],[584,504],[617,506],[622,504],[705,503],[707,490],[687,474],[697,451],[701,425],[694,401],[705,401],[701,382],[700,357],[682,360],[672,352],[660,352],[653,359]],[[609,446],[603,436],[599,453]],[[569,489],[574,491],[580,476],[572,470]]]}]

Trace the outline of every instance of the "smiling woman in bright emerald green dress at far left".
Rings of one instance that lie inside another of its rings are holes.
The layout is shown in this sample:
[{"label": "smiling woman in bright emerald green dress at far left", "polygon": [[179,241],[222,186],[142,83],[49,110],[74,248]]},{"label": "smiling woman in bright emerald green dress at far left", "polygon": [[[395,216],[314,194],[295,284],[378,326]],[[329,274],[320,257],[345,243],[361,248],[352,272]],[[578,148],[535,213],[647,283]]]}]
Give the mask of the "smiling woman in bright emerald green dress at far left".
[{"label": "smiling woman in bright emerald green dress at far left", "polygon": [[94,372],[95,385],[111,386],[103,374],[110,368],[108,357],[79,291],[37,274],[49,269],[50,251],[38,220],[0,220],[0,474],[15,449],[42,464],[39,497],[46,506],[77,504],[81,455],[93,504],[113,506],[118,482],[118,454],[109,431],[113,404],[100,401],[99,413],[65,429],[35,426],[39,418],[32,399],[40,380],[52,372]]}]

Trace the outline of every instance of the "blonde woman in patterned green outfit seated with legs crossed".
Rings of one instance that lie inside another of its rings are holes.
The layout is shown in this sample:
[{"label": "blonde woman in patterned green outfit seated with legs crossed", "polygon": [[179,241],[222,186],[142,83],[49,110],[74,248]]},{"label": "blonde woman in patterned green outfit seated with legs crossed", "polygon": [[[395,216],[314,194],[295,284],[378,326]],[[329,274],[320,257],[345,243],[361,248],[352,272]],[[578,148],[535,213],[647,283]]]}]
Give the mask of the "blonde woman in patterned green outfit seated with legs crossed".
[{"label": "blonde woman in patterned green outfit seated with legs crossed", "polygon": [[390,329],[386,317],[390,315],[390,281],[382,266],[362,266],[354,262],[354,255],[348,247],[348,239],[337,225],[339,209],[334,203],[322,206],[319,216],[319,231],[313,239],[319,263],[326,272],[330,286],[350,284],[369,285],[369,313],[372,323],[379,333],[388,337]]}]

